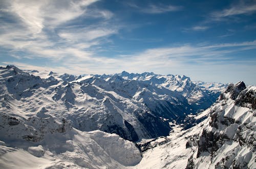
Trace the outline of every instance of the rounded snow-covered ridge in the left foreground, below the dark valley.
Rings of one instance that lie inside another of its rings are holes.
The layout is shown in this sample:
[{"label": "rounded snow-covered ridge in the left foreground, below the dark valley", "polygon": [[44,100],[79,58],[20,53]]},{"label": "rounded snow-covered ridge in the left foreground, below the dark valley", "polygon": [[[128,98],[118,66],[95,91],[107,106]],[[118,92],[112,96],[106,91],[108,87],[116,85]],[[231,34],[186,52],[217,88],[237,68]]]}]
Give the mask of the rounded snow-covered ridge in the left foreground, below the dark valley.
[{"label": "rounded snow-covered ridge in the left foreground, below the dark valley", "polygon": [[126,168],[141,160],[135,143],[66,120],[1,115],[0,168]]}]

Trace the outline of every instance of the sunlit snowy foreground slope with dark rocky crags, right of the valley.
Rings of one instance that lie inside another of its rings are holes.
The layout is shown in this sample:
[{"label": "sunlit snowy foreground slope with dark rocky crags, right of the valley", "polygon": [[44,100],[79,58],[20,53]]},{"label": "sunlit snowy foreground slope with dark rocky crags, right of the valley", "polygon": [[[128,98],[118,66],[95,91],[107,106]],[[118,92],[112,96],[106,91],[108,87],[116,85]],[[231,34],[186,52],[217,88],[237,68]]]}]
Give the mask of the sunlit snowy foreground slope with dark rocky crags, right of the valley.
[{"label": "sunlit snowy foreground slope with dark rocky crags, right of the valley", "polygon": [[[203,122],[141,144],[137,168],[256,168],[256,87],[230,84]],[[198,117],[198,118],[199,118]]]}]

